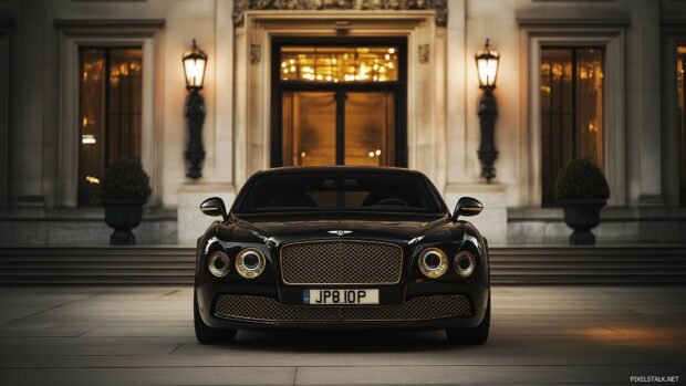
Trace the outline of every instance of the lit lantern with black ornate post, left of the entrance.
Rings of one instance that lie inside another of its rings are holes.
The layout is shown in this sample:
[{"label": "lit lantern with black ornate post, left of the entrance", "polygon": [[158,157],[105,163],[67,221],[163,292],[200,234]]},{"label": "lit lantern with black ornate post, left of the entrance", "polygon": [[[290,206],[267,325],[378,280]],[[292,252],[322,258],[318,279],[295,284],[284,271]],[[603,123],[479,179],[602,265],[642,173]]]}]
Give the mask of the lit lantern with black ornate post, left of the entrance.
[{"label": "lit lantern with black ornate post, left of the entrance", "polygon": [[202,147],[202,124],[205,123],[205,102],[200,90],[205,81],[205,66],[207,65],[207,54],[198,49],[196,40],[193,40],[193,48],[184,53],[184,73],[186,75],[186,121],[188,121],[188,145],[186,146],[186,160],[188,171],[186,177],[198,179],[202,177],[202,160],[205,159],[205,148]]}]

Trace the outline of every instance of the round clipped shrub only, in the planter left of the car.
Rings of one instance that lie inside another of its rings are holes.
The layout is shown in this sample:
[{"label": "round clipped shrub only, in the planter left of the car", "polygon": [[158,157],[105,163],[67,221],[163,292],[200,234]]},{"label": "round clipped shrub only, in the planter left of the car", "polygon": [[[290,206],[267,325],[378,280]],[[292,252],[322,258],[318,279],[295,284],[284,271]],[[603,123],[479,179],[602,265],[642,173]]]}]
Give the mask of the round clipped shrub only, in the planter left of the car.
[{"label": "round clipped shrub only, in the planter left of the car", "polygon": [[105,168],[101,191],[103,199],[145,201],[150,192],[150,177],[139,161],[117,159]]}]

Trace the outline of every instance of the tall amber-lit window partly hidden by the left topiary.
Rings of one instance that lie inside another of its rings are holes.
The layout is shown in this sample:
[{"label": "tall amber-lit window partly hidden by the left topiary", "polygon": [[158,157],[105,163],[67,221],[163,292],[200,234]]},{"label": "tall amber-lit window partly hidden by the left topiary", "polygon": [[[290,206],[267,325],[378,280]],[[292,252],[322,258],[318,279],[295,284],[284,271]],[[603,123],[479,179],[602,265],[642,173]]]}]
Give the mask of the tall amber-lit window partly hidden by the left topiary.
[{"label": "tall amber-lit window partly hidden by the left topiary", "polygon": [[82,48],[79,86],[79,206],[100,204],[105,166],[141,160],[141,48]]}]

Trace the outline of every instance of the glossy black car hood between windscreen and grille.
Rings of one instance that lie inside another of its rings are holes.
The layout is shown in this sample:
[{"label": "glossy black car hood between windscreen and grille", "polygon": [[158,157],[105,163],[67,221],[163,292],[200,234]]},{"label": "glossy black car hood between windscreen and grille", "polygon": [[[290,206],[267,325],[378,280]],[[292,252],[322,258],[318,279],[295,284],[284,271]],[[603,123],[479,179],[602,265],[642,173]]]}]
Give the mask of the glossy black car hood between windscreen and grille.
[{"label": "glossy black car hood between windscreen and grille", "polygon": [[277,241],[326,239],[332,237],[374,238],[409,241],[449,223],[447,215],[370,215],[370,216],[278,216],[241,217],[236,226],[253,234]]}]

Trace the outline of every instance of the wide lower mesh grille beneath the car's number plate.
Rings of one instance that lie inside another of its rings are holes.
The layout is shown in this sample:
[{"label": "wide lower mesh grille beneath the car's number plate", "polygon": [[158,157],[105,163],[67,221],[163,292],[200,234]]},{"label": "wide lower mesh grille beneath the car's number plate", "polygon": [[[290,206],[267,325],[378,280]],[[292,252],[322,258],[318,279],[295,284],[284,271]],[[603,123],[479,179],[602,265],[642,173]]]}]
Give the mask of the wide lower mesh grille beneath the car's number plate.
[{"label": "wide lower mesh grille beneath the car's number plate", "polygon": [[464,295],[414,298],[401,304],[300,305],[283,304],[271,298],[222,295],[215,315],[224,319],[261,322],[412,322],[446,317],[469,317]]}]

